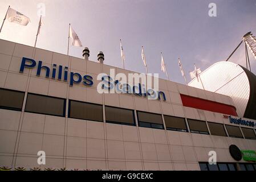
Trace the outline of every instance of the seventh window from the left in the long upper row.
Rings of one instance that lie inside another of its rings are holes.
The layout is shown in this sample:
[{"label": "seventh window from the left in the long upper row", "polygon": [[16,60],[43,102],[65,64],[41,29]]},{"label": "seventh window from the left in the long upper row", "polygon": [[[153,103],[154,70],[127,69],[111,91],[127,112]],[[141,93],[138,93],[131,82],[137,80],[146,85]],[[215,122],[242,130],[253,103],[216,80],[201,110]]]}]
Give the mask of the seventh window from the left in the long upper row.
[{"label": "seventh window from the left in the long upper row", "polygon": [[188,119],[191,133],[209,134],[205,121]]}]

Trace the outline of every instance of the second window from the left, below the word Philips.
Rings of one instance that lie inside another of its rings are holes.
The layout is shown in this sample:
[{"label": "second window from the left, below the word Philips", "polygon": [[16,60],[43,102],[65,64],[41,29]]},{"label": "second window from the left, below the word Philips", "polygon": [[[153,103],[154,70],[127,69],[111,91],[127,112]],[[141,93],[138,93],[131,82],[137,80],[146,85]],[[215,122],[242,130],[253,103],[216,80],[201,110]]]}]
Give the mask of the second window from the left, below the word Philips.
[{"label": "second window from the left, below the word Philips", "polygon": [[64,117],[66,99],[28,93],[25,111]]}]

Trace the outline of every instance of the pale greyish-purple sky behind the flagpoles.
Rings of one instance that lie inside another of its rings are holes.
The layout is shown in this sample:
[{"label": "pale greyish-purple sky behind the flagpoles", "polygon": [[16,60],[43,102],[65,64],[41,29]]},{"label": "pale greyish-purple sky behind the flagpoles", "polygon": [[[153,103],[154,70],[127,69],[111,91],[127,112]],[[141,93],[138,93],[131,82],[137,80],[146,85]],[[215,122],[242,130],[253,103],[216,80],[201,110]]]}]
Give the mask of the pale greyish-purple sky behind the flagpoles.
[{"label": "pale greyish-purple sky behind the flagpoles", "polygon": [[[21,26],[6,21],[0,39],[34,46],[40,3],[46,8],[36,47],[67,54],[71,23],[83,47],[90,49],[90,60],[97,61],[97,53],[103,51],[104,64],[122,68],[122,39],[125,69],[145,72],[144,46],[149,73],[167,79],[161,72],[162,52],[170,80],[182,84],[179,57],[190,81],[194,64],[204,71],[226,60],[247,32],[256,35],[256,0],[1,0],[0,23],[9,5],[31,23]],[[208,15],[209,3],[216,3],[216,17]],[[82,58],[83,47],[70,47],[70,55]],[[249,55],[256,74],[256,60]],[[246,65],[244,44],[230,61]]]}]

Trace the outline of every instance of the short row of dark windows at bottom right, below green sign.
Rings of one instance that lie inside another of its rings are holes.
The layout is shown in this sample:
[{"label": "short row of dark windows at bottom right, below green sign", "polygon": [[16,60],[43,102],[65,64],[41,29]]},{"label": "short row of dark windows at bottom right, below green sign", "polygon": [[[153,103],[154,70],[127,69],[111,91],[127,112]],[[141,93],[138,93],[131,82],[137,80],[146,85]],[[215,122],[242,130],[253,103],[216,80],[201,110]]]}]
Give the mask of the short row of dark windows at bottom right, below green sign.
[{"label": "short row of dark windows at bottom right, below green sign", "polygon": [[[239,171],[256,171],[256,164],[238,163]],[[199,163],[201,171],[238,171],[235,163]]]}]

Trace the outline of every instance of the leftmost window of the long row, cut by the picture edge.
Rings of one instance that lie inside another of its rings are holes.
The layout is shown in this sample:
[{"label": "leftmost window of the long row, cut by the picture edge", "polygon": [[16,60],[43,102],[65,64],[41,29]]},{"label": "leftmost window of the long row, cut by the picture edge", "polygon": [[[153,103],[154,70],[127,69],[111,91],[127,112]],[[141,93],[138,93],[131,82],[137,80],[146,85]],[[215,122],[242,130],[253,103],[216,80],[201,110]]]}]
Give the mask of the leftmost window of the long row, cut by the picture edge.
[{"label": "leftmost window of the long row, cut by the picture edge", "polygon": [[0,109],[22,110],[25,93],[0,89]]}]

